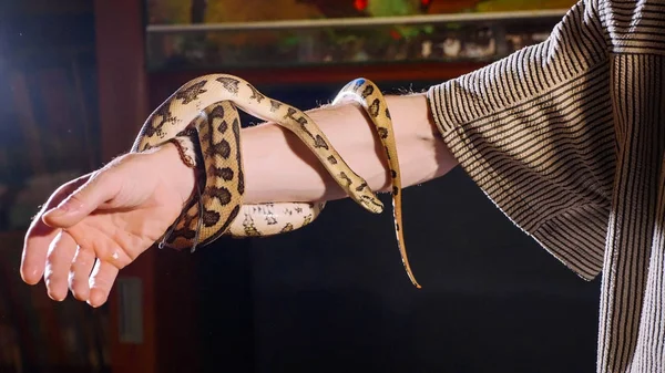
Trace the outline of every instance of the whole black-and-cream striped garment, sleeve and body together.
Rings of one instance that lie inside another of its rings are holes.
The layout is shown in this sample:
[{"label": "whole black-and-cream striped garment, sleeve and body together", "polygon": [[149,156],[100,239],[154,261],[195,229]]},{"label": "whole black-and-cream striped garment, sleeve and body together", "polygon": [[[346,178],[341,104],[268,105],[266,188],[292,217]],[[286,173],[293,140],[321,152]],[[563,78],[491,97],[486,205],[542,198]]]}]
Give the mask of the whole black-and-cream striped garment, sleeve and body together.
[{"label": "whole black-and-cream striped garment, sleeve and body together", "polygon": [[488,197],[603,273],[597,372],[665,372],[665,0],[580,1],[546,41],[428,97]]}]

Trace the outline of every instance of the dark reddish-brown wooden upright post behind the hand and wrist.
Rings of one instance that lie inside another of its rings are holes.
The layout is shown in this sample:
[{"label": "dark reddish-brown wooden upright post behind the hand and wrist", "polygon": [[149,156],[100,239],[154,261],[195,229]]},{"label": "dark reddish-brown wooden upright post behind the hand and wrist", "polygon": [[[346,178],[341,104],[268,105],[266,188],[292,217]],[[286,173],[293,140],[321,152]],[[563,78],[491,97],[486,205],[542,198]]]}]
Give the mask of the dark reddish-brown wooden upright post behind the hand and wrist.
[{"label": "dark reddish-brown wooden upright post behind the hand and wrist", "polygon": [[[129,151],[149,114],[143,9],[142,2],[135,0],[95,0],[94,8],[102,159],[109,162]],[[193,279],[192,260],[186,255],[167,250],[157,253],[155,248],[144,252],[119,274],[121,282],[140,280],[142,340],[139,343],[121,341],[120,324],[127,315],[120,309],[119,297],[123,294],[119,293],[117,286],[113,287],[109,299],[113,372],[163,372],[163,364],[167,364],[168,370],[196,371],[195,346],[178,343],[183,333],[191,332],[190,327],[174,322],[190,319],[196,312],[191,307],[180,307],[193,303],[194,292],[187,290]],[[180,277],[164,276],[162,268],[170,268]],[[168,302],[174,288],[176,291],[171,300],[177,300],[178,305]],[[161,356],[168,359],[161,360]]]}]

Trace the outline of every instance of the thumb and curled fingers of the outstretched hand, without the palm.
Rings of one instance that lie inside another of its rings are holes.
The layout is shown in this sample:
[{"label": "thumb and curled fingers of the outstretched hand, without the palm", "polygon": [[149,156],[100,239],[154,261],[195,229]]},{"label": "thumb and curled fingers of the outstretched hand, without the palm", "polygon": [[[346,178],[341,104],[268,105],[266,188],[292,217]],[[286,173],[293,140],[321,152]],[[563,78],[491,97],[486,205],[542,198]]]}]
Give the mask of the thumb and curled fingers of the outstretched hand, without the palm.
[{"label": "thumb and curled fingers of the outstretched hand, without the palm", "polygon": [[78,224],[117,201],[127,179],[119,177],[119,169],[120,162],[114,162],[53,193],[25,235],[20,270],[24,282],[35,284],[43,277],[49,297],[57,301],[66,298],[68,290],[93,307],[106,301],[119,268],[132,260],[122,250],[100,250],[96,236]]}]

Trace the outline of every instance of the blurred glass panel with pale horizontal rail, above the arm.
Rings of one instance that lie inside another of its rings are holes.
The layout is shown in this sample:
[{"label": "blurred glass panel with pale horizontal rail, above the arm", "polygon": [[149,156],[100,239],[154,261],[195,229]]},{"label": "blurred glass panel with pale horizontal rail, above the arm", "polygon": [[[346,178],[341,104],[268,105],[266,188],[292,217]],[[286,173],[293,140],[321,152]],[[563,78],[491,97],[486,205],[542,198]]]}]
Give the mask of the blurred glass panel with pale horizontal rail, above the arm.
[{"label": "blurred glass panel with pale horizontal rail, above the arm", "polygon": [[149,0],[149,69],[489,61],[542,41],[573,3]]}]

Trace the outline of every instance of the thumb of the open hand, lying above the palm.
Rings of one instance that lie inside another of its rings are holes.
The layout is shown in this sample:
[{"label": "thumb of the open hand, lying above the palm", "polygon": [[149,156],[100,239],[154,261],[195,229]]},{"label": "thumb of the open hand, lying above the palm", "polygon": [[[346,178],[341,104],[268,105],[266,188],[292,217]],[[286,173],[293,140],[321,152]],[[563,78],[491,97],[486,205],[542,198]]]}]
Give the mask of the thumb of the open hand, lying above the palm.
[{"label": "thumb of the open hand, lying above the palm", "polygon": [[53,228],[69,228],[115,197],[120,184],[111,170],[106,168],[94,174],[58,206],[48,210],[42,217],[43,222]]}]

